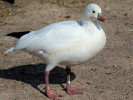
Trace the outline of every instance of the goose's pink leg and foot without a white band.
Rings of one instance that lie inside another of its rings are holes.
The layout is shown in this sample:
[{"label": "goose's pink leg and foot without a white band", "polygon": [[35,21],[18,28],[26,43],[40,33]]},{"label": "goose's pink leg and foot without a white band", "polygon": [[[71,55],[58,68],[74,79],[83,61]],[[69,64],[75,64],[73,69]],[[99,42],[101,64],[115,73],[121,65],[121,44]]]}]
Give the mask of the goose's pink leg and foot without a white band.
[{"label": "goose's pink leg and foot without a white band", "polygon": [[49,74],[50,72],[45,71],[45,92],[50,99],[55,99],[59,97],[59,95],[56,93],[52,93],[49,89]]}]

